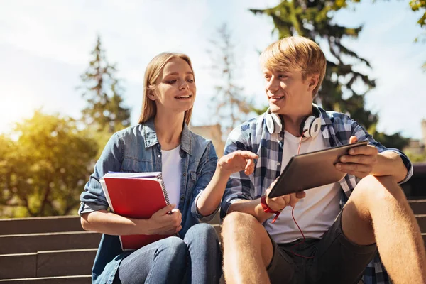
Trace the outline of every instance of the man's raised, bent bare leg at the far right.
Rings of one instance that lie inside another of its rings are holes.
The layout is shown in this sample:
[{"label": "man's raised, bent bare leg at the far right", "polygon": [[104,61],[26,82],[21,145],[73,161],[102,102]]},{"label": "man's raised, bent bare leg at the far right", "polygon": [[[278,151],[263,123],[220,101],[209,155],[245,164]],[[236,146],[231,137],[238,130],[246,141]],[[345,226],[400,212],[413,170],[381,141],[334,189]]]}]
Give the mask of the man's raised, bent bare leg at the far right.
[{"label": "man's raised, bent bare leg at the far right", "polygon": [[369,175],[356,185],[344,207],[342,228],[355,244],[376,241],[393,283],[426,283],[420,228],[403,190],[391,176]]}]

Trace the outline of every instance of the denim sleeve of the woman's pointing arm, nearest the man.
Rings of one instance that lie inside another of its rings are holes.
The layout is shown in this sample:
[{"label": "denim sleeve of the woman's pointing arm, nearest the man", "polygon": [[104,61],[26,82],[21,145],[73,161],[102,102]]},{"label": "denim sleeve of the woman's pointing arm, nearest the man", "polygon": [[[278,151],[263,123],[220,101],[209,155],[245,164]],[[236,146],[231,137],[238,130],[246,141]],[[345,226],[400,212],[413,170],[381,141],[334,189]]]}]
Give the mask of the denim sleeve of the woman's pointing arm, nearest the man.
[{"label": "denim sleeve of the woman's pointing arm, nearest the man", "polygon": [[200,165],[198,165],[198,167],[200,168],[200,176],[197,178],[194,190],[192,192],[193,198],[191,201],[191,214],[192,217],[207,222],[213,219],[214,215],[219,210],[219,206],[217,207],[217,209],[214,210],[212,214],[209,214],[208,216],[203,216],[197,210],[197,200],[203,190],[207,187],[207,185],[209,185],[210,180],[212,180],[213,178],[214,171],[216,170],[217,154],[212,142],[209,142],[208,146],[206,147],[206,151],[202,155],[201,161],[202,162],[200,163]]}]

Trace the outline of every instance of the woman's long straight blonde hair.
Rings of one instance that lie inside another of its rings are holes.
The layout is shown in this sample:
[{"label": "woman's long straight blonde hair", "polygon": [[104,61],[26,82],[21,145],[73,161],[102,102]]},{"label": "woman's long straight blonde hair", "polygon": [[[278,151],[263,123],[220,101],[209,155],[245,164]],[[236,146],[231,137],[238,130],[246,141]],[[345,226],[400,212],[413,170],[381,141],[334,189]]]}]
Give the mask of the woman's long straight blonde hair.
[{"label": "woman's long straight blonde hair", "polygon": [[[188,65],[190,65],[192,74],[194,74],[191,60],[188,55],[182,53],[160,53],[159,55],[155,56],[155,58],[153,58],[151,62],[148,63],[148,66],[145,70],[145,78],[143,79],[143,102],[141,116],[139,116],[139,124],[148,121],[148,119],[151,119],[153,116],[155,116],[155,114],[157,114],[157,107],[155,102],[148,98],[148,94],[153,92],[153,90],[157,87],[155,82],[157,82],[160,73],[163,71],[164,65],[173,58],[180,58],[185,60]],[[192,107],[185,111],[183,121],[185,121],[187,125],[190,124],[191,114]]]}]

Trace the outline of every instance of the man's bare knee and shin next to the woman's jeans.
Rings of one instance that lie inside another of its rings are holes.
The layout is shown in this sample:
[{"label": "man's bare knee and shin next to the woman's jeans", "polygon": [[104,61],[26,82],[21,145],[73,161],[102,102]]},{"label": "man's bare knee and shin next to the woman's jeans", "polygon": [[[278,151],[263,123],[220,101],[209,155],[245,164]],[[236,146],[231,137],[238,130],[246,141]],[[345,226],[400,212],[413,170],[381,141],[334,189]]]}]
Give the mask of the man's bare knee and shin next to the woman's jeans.
[{"label": "man's bare knee and shin next to the woman's jeans", "polygon": [[265,228],[250,214],[232,212],[222,224],[226,283],[270,283],[266,267],[273,247]]}]

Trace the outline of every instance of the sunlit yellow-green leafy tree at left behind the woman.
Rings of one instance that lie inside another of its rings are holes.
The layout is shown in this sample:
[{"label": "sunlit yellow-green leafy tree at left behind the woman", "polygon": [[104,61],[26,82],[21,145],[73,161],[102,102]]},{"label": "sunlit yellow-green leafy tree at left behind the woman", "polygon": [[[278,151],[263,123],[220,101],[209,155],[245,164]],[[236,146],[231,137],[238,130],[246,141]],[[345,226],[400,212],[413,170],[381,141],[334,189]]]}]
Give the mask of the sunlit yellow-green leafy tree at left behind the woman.
[{"label": "sunlit yellow-green leafy tree at left behind the woman", "polygon": [[14,134],[14,142],[0,137],[0,206],[9,209],[5,217],[75,211],[97,143],[77,129],[74,119],[40,111],[18,124]]}]

